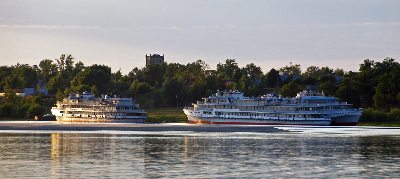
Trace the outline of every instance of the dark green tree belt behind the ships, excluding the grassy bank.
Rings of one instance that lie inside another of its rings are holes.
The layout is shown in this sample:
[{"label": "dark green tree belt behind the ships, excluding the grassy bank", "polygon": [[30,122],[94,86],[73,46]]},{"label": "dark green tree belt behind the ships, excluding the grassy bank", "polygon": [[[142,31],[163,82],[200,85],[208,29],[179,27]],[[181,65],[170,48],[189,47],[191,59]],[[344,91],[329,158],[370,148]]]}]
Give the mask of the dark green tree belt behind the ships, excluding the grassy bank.
[{"label": "dark green tree belt behind the ships, excluding the grassy bank", "polygon": [[[317,86],[319,91],[356,108],[384,107],[390,110],[398,107],[400,101],[400,66],[392,58],[382,62],[366,59],[360,64],[359,72],[318,66],[310,66],[302,72],[300,64],[290,62],[288,66],[266,73],[253,63],[239,67],[234,59],[218,63],[216,70],[203,60],[196,60],[188,64],[148,64],[135,67],[128,74],[122,74],[120,70],[112,73],[105,65],[85,66],[82,61],[75,61],[74,56],[62,54],[58,59],[44,59],[39,63],[36,79],[44,79],[49,93],[56,95],[56,101],[62,101],[72,91],[90,91],[97,96],[132,97],[142,107],[158,108],[176,106],[176,96],[180,106],[195,103],[216,90],[239,90],[247,97],[257,97],[274,91],[272,88],[282,87],[275,90],[279,89],[279,94],[284,97],[294,97],[307,85]],[[37,83],[34,73],[29,64],[1,66],[0,90],[34,88]],[[279,75],[288,75],[288,78],[281,81]],[[295,76],[301,78],[295,79]],[[335,76],[343,77],[343,80],[335,84]],[[230,80],[226,87],[221,85],[224,80]],[[3,99],[2,105],[5,103]],[[18,106],[21,107],[21,103]]]}]

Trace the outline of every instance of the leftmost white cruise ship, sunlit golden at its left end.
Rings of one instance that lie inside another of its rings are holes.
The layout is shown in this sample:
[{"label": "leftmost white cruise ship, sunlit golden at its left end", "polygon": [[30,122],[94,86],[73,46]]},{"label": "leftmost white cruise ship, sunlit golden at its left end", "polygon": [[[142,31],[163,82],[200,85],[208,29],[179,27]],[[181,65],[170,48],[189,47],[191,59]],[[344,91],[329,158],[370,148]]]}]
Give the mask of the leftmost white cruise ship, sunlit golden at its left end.
[{"label": "leftmost white cruise ship, sunlit golden at its left end", "polygon": [[146,111],[130,98],[114,98],[102,95],[70,93],[63,102],[57,102],[51,109],[57,121],[63,122],[143,122]]}]

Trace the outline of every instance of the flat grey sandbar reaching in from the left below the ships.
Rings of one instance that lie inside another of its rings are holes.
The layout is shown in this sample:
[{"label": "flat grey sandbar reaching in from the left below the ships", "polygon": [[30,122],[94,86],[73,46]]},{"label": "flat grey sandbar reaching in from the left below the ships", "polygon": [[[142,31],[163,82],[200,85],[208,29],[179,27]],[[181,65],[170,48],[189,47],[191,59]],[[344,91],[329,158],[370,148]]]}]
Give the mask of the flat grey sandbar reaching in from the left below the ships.
[{"label": "flat grey sandbar reaching in from the left below the ships", "polygon": [[2,121],[0,130],[71,131],[206,131],[206,132],[283,132],[287,130],[259,125],[207,125],[158,123],[60,123]]}]

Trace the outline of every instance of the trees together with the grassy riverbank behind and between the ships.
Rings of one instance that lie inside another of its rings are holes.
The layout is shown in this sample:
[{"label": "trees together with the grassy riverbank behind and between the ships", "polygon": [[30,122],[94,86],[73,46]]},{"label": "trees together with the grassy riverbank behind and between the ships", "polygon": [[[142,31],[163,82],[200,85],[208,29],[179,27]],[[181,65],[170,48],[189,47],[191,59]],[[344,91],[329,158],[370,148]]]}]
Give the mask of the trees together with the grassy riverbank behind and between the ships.
[{"label": "trees together with the grassy riverbank behind and between the ships", "polygon": [[[263,72],[253,63],[239,67],[234,59],[226,59],[212,70],[204,60],[187,64],[160,60],[125,75],[121,70],[113,73],[106,65],[85,66],[75,61],[74,56],[62,54],[55,60],[44,59],[38,66],[0,66],[0,90],[4,90],[0,120],[30,120],[50,113],[56,101],[70,92],[90,91],[96,97],[108,94],[134,99],[147,112],[145,122],[185,123],[183,106],[192,107],[217,90],[239,90],[247,97],[270,93],[294,97],[312,89],[352,104],[354,109],[363,108],[359,125],[398,126],[400,121],[400,64],[392,58],[381,62],[366,59],[359,72],[327,66],[309,66],[302,71],[300,64],[292,62]],[[52,98],[44,97],[39,86],[48,89]],[[21,97],[24,88],[36,88],[36,93]]]}]

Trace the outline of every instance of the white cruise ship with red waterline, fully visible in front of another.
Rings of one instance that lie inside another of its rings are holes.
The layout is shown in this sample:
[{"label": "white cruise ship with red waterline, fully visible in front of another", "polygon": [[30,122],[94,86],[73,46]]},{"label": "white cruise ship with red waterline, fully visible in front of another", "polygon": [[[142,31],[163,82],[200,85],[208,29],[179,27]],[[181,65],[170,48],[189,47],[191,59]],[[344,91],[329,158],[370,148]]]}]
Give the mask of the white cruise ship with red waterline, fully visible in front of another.
[{"label": "white cruise ship with red waterline, fully visible in front of another", "polygon": [[284,99],[265,95],[244,97],[239,91],[220,92],[184,108],[190,123],[329,125],[328,113],[318,105],[287,104]]}]

